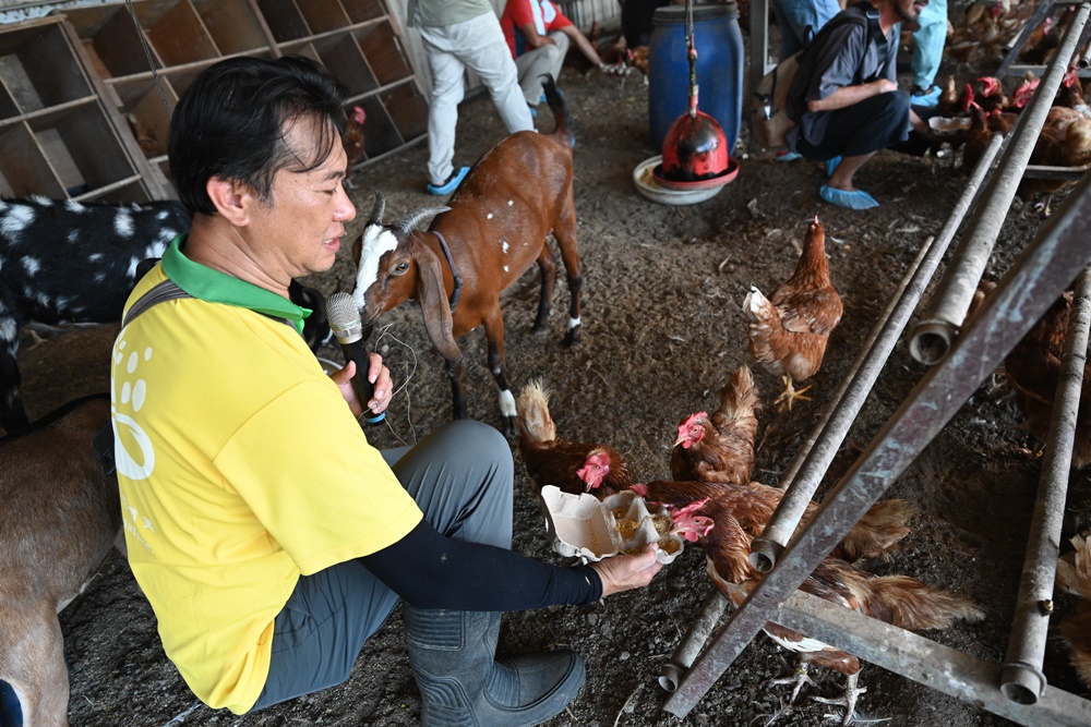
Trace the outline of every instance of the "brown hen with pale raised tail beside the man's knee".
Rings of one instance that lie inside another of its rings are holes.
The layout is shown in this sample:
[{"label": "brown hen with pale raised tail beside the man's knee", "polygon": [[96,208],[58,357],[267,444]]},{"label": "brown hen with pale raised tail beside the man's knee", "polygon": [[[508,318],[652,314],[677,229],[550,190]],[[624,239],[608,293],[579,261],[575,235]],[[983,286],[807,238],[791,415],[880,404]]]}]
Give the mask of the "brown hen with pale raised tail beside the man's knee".
[{"label": "brown hen with pale raised tail beside the man's knee", "polygon": [[556,485],[572,495],[591,493],[599,499],[628,489],[628,464],[609,445],[559,439],[549,413],[550,392],[531,381],[516,400],[515,427],[519,455],[538,488]]}]

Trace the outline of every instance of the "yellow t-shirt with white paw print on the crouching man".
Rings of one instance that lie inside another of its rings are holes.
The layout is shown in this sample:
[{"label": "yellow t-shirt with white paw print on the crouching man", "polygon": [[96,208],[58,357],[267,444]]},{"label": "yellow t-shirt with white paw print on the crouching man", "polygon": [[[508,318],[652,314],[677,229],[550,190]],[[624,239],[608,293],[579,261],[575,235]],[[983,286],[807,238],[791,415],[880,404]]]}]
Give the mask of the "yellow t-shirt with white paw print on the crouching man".
[{"label": "yellow t-shirt with white paw print on the crouching man", "polygon": [[168,301],[121,330],[111,365],[133,574],[190,689],[244,713],[300,574],[397,542],[421,511],[290,326]]}]

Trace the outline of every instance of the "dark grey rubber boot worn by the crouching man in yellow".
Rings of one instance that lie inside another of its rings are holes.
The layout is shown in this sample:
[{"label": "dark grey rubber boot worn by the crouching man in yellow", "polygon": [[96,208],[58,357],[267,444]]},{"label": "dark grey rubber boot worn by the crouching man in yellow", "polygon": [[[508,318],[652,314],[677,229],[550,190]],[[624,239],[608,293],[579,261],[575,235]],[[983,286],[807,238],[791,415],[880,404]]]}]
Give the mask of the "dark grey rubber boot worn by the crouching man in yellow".
[{"label": "dark grey rubber boot worn by the crouching man in yellow", "polygon": [[401,604],[423,727],[521,727],[559,714],[584,683],[568,650],[495,658],[500,614]]}]

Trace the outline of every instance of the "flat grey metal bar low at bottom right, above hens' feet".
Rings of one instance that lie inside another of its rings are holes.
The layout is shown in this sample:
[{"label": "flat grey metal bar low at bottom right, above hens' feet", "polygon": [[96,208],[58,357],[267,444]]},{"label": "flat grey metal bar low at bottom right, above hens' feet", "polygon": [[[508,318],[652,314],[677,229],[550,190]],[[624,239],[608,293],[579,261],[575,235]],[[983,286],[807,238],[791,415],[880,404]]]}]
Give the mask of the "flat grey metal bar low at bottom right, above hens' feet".
[{"label": "flat grey metal bar low at bottom right, above hens' feet", "polygon": [[1091,702],[1046,687],[1033,706],[996,689],[1000,667],[796,591],[769,619],[1027,727],[1089,727]]}]

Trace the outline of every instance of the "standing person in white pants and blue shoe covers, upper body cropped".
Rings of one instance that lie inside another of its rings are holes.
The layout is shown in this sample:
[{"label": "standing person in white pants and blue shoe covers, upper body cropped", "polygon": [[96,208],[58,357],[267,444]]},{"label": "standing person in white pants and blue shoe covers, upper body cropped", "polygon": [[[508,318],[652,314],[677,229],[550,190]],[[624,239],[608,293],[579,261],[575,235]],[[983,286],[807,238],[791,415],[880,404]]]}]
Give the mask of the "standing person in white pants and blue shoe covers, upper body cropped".
[{"label": "standing person in white pants and blue shoe covers, upper body cropped", "polygon": [[455,169],[455,128],[470,68],[489,89],[508,133],[533,130],[518,75],[489,0],[409,0],[409,24],[420,32],[432,72],[428,110],[428,191],[449,194],[469,167]]}]

